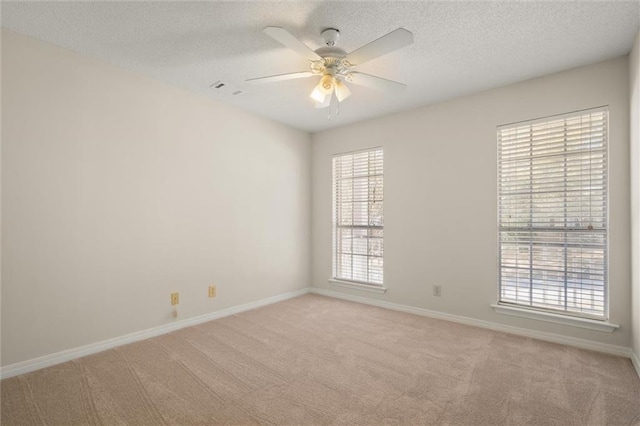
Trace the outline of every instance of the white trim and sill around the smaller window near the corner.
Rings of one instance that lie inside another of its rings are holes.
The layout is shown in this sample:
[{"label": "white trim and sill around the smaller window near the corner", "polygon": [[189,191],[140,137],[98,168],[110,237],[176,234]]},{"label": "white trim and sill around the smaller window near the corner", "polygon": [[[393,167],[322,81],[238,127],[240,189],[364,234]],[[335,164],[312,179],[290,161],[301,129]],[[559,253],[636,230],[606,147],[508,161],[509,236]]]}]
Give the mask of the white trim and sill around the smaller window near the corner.
[{"label": "white trim and sill around the smaller window near the corner", "polygon": [[[359,280],[350,280],[350,279],[346,279],[346,278],[342,278],[342,277],[337,277],[336,275],[336,256],[337,256],[337,252],[336,252],[336,230],[338,229],[338,226],[336,226],[336,223],[334,222],[335,220],[335,209],[336,209],[336,194],[335,194],[335,175],[334,175],[334,170],[333,170],[333,161],[335,158],[339,158],[339,157],[343,157],[346,155],[355,155],[355,154],[359,154],[359,153],[365,153],[365,152],[373,152],[373,151],[382,151],[382,176],[383,176],[383,187],[384,187],[384,147],[383,146],[375,146],[375,147],[371,147],[371,148],[364,148],[364,149],[357,149],[357,150],[352,150],[352,151],[346,151],[346,152],[339,152],[339,153],[334,153],[331,156],[331,207],[332,207],[332,223],[331,223],[331,278],[329,278],[329,282],[337,287],[344,287],[344,288],[352,288],[352,289],[356,289],[356,290],[364,290],[364,291],[370,291],[373,293],[386,293],[387,288],[384,287],[384,254],[382,256],[383,259],[383,266],[382,266],[382,270],[383,270],[383,278],[382,278],[382,282],[381,283],[375,283],[375,282],[367,282],[367,281],[359,281]],[[383,196],[384,197],[384,196]],[[383,203],[383,212],[384,212],[384,198],[382,200]],[[383,217],[384,217],[384,213],[383,213]],[[384,231],[384,220],[383,220],[383,225],[379,226],[377,225],[376,227],[381,228]],[[367,226],[367,229],[369,229],[370,227]],[[371,227],[373,228],[373,227]],[[382,237],[382,241],[384,244],[384,236]],[[384,250],[384,249],[383,249]],[[383,252],[384,253],[384,252]]]}]

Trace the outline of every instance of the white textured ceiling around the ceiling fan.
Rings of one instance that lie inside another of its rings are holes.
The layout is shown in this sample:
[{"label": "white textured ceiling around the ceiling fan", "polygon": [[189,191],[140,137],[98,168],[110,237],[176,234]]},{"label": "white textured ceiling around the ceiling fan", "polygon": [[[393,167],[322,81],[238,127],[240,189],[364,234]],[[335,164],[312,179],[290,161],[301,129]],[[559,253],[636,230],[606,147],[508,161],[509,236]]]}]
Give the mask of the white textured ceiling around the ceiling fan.
[{"label": "white textured ceiling around the ceiling fan", "polygon": [[[492,2],[5,2],[2,26],[168,84],[316,132],[625,55],[640,1]],[[262,32],[280,26],[312,49],[341,32],[350,52],[396,28],[415,43],[358,67],[404,82],[401,94],[351,85],[327,120],[308,94],[316,78],[248,85],[307,70],[306,59]],[[222,80],[237,96],[214,93]],[[334,112],[335,114],[335,112]]]}]

